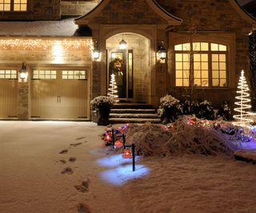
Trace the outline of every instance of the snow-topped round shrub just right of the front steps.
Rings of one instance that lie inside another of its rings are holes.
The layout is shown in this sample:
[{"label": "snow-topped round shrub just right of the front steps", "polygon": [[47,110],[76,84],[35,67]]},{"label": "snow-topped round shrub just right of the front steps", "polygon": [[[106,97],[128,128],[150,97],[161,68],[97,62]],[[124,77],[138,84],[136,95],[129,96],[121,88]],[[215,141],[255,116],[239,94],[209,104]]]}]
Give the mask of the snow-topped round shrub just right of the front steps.
[{"label": "snow-topped round shrub just right of the front steps", "polygon": [[178,99],[171,95],[160,98],[158,115],[161,116],[164,123],[176,120],[180,114],[182,114],[182,105]]}]

